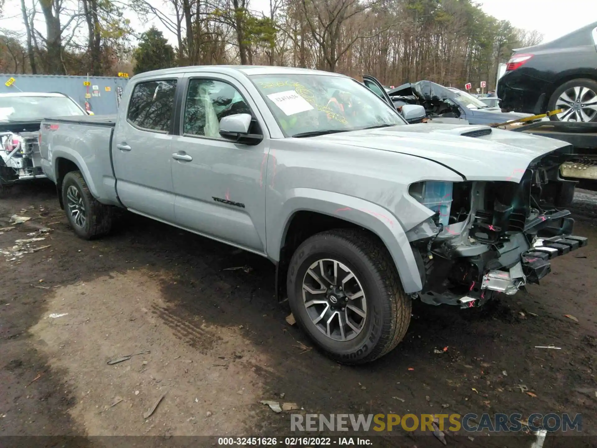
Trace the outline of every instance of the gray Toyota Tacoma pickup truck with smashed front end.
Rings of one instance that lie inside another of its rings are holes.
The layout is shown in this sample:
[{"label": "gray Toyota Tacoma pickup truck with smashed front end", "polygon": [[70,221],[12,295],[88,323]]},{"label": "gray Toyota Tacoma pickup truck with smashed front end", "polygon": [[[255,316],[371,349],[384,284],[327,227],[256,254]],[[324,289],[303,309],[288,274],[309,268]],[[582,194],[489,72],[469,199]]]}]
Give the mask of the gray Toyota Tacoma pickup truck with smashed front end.
[{"label": "gray Toyota Tacoma pickup truck with smashed front end", "polygon": [[46,120],[40,142],[79,237],[109,232],[122,207],[267,257],[279,298],[343,363],[392,350],[413,299],[481,306],[587,243],[558,176],[571,145],[408,124],[336,73],[142,73],[117,116]]}]

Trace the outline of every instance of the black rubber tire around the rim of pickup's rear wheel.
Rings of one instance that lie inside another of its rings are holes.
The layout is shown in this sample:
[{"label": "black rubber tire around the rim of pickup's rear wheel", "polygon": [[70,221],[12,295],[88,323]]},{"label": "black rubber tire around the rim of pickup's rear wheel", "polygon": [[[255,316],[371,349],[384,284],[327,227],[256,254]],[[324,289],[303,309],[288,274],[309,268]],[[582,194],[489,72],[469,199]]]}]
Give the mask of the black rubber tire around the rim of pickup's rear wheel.
[{"label": "black rubber tire around the rim of pickup's rear wheel", "polygon": [[[69,213],[68,200],[66,192],[69,186],[74,186],[83,200],[87,219],[84,226],[76,225]],[[70,171],[64,176],[62,181],[62,201],[64,211],[75,234],[83,240],[92,240],[107,234],[112,227],[112,207],[101,204],[91,195],[87,182],[83,178],[81,171]]]}]

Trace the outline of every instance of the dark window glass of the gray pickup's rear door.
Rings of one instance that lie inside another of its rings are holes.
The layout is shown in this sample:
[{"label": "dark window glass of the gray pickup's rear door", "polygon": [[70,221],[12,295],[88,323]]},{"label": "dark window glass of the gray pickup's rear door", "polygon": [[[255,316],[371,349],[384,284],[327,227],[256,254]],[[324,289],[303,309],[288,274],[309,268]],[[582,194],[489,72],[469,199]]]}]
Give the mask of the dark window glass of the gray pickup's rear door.
[{"label": "dark window glass of the gray pickup's rear door", "polygon": [[176,81],[148,81],[137,84],[131,94],[127,119],[137,127],[168,132],[172,122]]}]

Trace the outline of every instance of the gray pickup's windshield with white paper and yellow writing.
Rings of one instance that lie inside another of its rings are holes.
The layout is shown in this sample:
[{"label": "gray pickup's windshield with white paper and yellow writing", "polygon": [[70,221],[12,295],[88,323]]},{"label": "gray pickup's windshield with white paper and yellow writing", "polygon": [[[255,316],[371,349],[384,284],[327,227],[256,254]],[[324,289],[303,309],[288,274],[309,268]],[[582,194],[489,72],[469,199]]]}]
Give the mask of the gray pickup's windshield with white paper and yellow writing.
[{"label": "gray pickup's windshield with white paper and yellow writing", "polygon": [[406,124],[354,79],[294,73],[250,78],[287,137]]}]

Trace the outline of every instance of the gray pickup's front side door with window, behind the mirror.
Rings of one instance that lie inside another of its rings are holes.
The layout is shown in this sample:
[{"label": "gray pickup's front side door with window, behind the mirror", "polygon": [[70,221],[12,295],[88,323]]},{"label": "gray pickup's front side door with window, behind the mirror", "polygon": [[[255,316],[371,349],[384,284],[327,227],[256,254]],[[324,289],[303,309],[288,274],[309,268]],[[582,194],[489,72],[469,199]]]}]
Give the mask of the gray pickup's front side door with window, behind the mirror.
[{"label": "gray pickup's front side door with window, behind the mirror", "polygon": [[193,77],[186,91],[181,135],[171,147],[176,223],[263,254],[267,140],[244,145],[219,133],[223,116],[250,113],[252,134],[263,133],[263,120],[233,78]]}]

